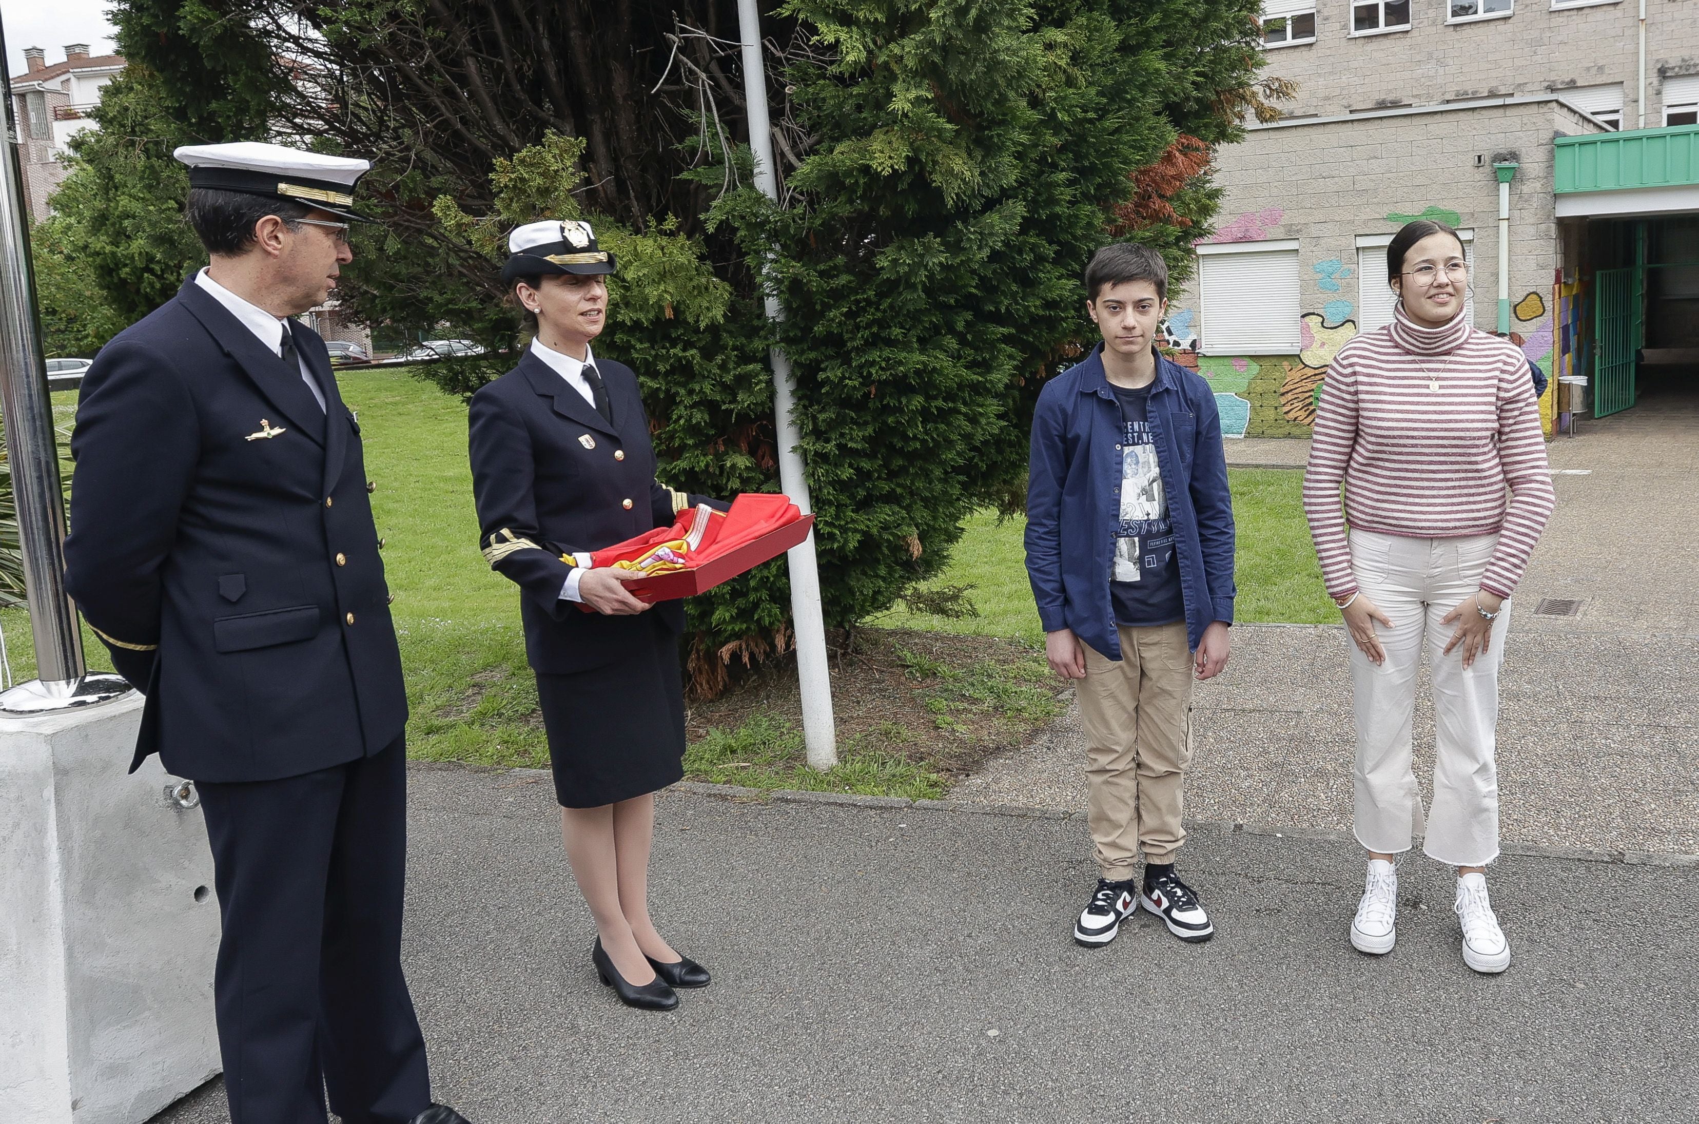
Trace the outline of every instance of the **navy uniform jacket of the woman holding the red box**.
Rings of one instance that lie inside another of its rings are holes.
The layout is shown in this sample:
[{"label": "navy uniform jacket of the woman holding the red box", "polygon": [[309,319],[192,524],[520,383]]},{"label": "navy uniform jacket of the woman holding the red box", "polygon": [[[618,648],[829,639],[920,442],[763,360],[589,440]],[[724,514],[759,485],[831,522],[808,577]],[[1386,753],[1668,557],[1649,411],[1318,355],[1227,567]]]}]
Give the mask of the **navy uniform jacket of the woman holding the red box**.
[{"label": "navy uniform jacket of the woman holding the red box", "polygon": [[676,600],[635,617],[583,612],[562,600],[573,573],[562,554],[668,527],[686,507],[725,507],[656,481],[637,376],[600,355],[596,371],[612,422],[530,349],[520,366],[472,395],[467,437],[479,548],[491,568],[518,583],[525,655],[544,675],[584,672],[652,646],[651,617],[675,634],[685,629]]}]

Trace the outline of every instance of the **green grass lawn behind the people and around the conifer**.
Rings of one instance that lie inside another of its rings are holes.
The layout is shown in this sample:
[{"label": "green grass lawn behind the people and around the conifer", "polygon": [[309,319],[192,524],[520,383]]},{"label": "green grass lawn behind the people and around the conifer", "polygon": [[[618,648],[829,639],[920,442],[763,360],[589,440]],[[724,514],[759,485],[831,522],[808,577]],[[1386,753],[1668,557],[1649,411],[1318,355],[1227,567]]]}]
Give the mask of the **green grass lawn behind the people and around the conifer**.
[{"label": "green grass lawn behind the people and around the conifer", "polygon": [[[398,369],[345,371],[341,395],[358,412],[367,476],[377,483],[372,510],[384,537],[384,566],[396,600],[415,757],[488,765],[542,765],[544,731],[537,689],[525,665],[518,590],[477,551],[472,473],[466,456],[466,406]],[[54,396],[56,422],[68,430],[75,393]],[[1332,605],[1298,505],[1298,473],[1232,473],[1239,517],[1239,619],[1330,621]],[[1041,643],[1023,566],[1024,520],[975,515],[955,559],[931,585],[970,587],[977,617],[945,619],[900,607],[872,626],[1002,636]],[[34,644],[22,609],[0,610],[14,677],[34,677]],[[83,629],[88,665],[110,668],[105,650]],[[727,760],[756,758],[792,770],[797,746],[778,728],[710,733],[691,748],[697,772],[720,775]],[[756,748],[761,748],[756,753]],[[853,750],[853,746],[851,746]],[[771,758],[771,760],[768,760]],[[843,774],[822,787],[931,792],[933,781],[882,779],[885,758],[846,753]],[[753,765],[751,765],[753,767]],[[748,775],[748,774],[746,774]],[[775,772],[776,775],[776,772]],[[748,779],[744,781],[749,782]]]}]

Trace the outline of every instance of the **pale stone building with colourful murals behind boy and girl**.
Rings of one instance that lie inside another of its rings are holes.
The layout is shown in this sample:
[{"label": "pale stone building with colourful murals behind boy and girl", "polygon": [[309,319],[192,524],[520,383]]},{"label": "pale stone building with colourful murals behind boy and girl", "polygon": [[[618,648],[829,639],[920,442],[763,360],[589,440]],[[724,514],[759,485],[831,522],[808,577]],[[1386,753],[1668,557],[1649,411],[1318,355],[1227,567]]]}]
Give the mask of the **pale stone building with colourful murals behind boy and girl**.
[{"label": "pale stone building with colourful murals behind boy and girl", "polygon": [[[1228,434],[1308,432],[1334,352],[1391,315],[1385,245],[1414,218],[1465,235],[1476,326],[1509,332],[1548,372],[1594,374],[1594,274],[1631,265],[1634,236],[1648,265],[1685,258],[1699,235],[1699,162],[1648,182],[1636,165],[1602,190],[1560,168],[1578,150],[1558,138],[1599,138],[1582,155],[1617,172],[1617,139],[1699,156],[1699,0],[1646,0],[1645,87],[1638,17],[1628,0],[1267,0],[1264,73],[1296,97],[1216,153],[1216,233],[1166,323]],[[1680,345],[1680,325],[1699,320],[1679,281],[1645,274],[1641,347]],[[1573,403],[1543,403],[1548,423],[1592,401],[1573,388]]]}]

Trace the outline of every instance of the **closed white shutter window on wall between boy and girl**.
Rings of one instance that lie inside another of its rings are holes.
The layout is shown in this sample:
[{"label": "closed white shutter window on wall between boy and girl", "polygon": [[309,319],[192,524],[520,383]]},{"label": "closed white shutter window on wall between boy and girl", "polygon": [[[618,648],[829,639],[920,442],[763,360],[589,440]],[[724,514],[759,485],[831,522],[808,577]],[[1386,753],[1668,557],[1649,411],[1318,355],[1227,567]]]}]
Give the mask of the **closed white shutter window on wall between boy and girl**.
[{"label": "closed white shutter window on wall between boy and girl", "polygon": [[1296,355],[1298,240],[1198,247],[1198,350],[1205,355]]}]

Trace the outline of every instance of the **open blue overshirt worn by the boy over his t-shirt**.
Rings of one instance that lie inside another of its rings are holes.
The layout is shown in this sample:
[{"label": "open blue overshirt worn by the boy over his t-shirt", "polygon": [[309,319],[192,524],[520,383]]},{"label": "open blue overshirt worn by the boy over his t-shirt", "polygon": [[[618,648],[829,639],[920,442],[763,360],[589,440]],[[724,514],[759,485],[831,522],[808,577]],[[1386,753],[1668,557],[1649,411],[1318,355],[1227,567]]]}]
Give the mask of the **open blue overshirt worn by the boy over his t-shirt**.
[{"label": "open blue overshirt worn by the boy over his t-shirt", "polygon": [[[1109,604],[1121,510],[1121,406],[1103,374],[1103,345],[1038,395],[1026,483],[1026,573],[1047,633],[1072,629],[1120,660]],[[1222,417],[1210,384],[1157,355],[1150,429],[1174,522],[1186,638],[1193,651],[1213,621],[1233,622],[1233,498]]]}]

